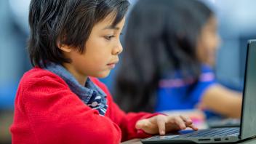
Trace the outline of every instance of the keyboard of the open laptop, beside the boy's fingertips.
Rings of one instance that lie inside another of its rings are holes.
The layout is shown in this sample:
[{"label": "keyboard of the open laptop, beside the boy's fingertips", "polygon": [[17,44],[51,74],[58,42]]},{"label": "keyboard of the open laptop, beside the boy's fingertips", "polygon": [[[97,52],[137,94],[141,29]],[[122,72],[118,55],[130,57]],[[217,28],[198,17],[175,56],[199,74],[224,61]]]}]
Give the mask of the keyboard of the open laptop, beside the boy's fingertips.
[{"label": "keyboard of the open laptop, beside the boy's fingertips", "polygon": [[239,127],[233,128],[216,128],[216,129],[202,129],[196,132],[191,132],[179,137],[225,137],[239,135]]}]

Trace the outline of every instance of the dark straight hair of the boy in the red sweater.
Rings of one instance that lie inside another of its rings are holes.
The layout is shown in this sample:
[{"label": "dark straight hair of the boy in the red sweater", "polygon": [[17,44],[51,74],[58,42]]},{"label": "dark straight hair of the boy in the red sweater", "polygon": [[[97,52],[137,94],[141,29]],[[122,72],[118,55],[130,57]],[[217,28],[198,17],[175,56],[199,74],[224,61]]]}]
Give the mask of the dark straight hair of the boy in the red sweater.
[{"label": "dark straight hair of the boy in the red sweater", "polygon": [[70,63],[58,44],[84,52],[93,26],[110,14],[112,25],[117,25],[128,7],[127,0],[31,0],[28,52],[32,65],[44,68],[47,61]]}]

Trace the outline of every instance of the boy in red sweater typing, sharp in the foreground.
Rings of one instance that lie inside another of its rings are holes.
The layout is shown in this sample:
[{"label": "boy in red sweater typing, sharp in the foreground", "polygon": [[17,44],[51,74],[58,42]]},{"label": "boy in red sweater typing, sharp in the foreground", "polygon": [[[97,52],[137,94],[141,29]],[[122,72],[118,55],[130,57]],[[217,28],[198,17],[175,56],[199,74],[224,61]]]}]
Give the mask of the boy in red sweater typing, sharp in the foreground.
[{"label": "boy in red sweater typing, sharp in the foreground", "polygon": [[185,116],[124,113],[96,78],[119,61],[127,0],[32,0],[34,68],[17,89],[12,143],[120,143],[193,126]]}]

